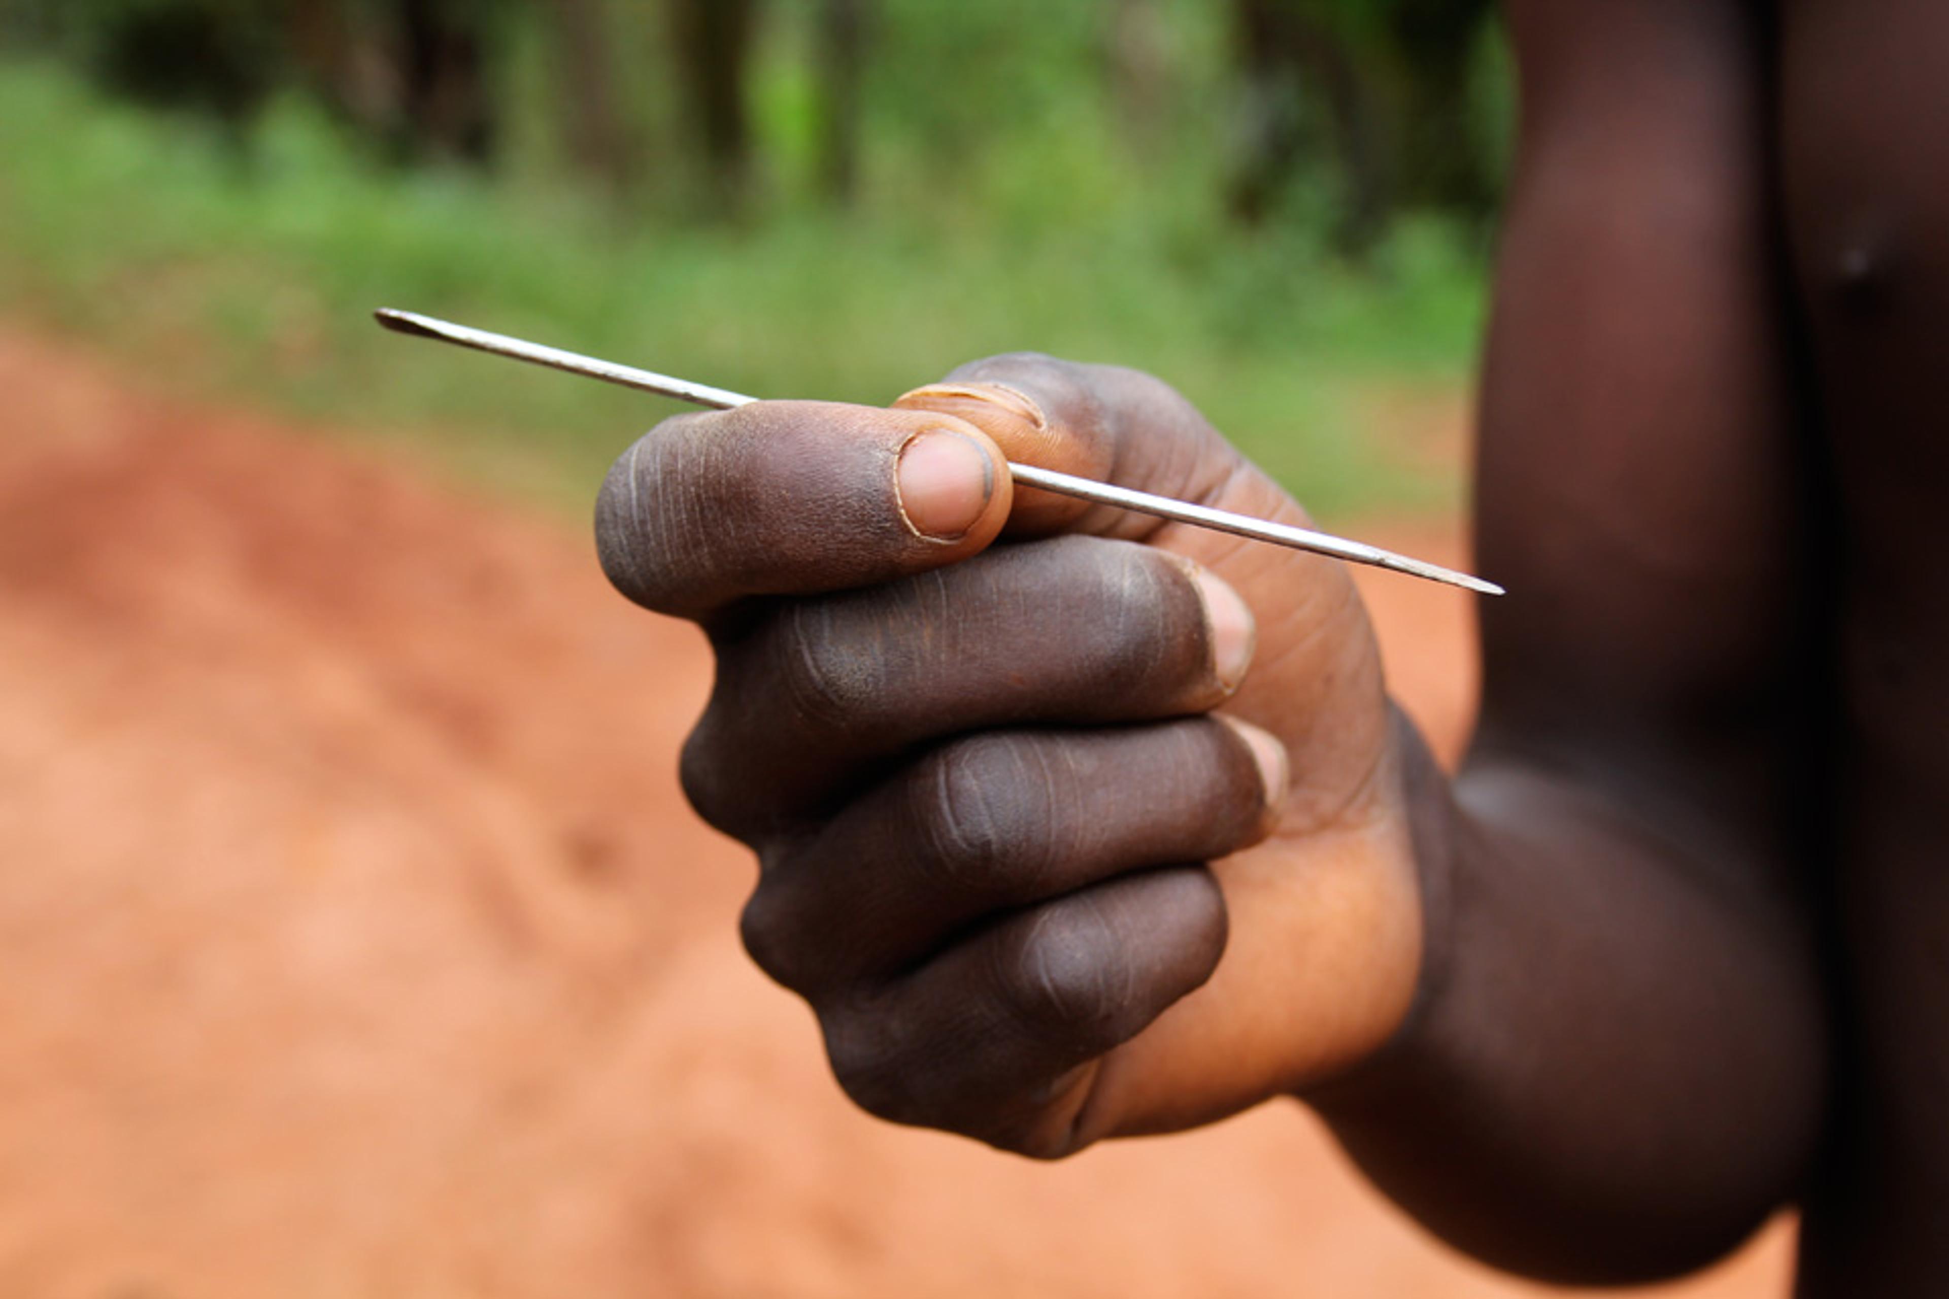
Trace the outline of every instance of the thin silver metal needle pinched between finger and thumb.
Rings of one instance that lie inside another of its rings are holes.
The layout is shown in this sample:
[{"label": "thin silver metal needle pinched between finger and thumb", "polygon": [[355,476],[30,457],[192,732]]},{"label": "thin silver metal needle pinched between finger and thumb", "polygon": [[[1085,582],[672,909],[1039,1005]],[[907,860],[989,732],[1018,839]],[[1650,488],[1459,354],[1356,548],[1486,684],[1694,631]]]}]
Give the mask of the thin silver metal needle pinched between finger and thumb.
[{"label": "thin silver metal needle pinched between finger and thumb", "polygon": [[[635,366],[618,366],[612,360],[596,360],[594,356],[577,356],[575,353],[563,353],[561,349],[542,347],[540,343],[524,343],[522,339],[511,339],[501,333],[487,333],[485,329],[470,329],[468,325],[454,325],[450,321],[435,319],[431,315],[417,315],[413,312],[396,312],[392,308],[380,308],[378,312],[374,312],[374,315],[378,315],[378,323],[382,323],[386,329],[392,329],[394,333],[407,333],[421,339],[439,339],[440,343],[472,347],[478,353],[489,353],[493,356],[509,356],[513,360],[526,360],[530,364],[548,366],[552,370],[567,370],[569,374],[583,374],[596,380],[608,380],[610,384],[622,384],[624,388],[635,388],[639,391],[657,393],[659,397],[674,397],[676,401],[688,401],[692,405],[729,411],[733,407],[750,405],[752,401],[756,401],[756,397],[725,391],[723,388],[692,384],[688,380],[670,378],[669,374],[637,370]],[[1409,559],[1407,555],[1395,555],[1394,551],[1384,551],[1378,545],[1366,545],[1364,541],[1349,541],[1347,538],[1335,538],[1325,532],[1314,532],[1312,528],[1275,524],[1263,518],[1251,518],[1249,514],[1214,510],[1204,504],[1173,501],[1171,497],[1154,497],[1148,491],[1132,491],[1128,487],[1097,483],[1095,479],[1076,477],[1072,473],[1056,473],[1054,469],[1039,469],[1035,465],[1017,465],[1015,462],[1008,462],[1008,471],[1010,477],[1027,487],[1041,487],[1043,491],[1054,491],[1064,497],[1076,497],[1080,501],[1093,501],[1095,504],[1109,504],[1123,510],[1136,510],[1138,514],[1156,514],[1158,518],[1169,518],[1179,524],[1193,524],[1197,528],[1230,532],[1234,536],[1251,538],[1255,541],[1288,545],[1296,551],[1331,555],[1335,559],[1345,559],[1349,563],[1372,565],[1376,569],[1392,569],[1394,573],[1421,576],[1431,582],[1446,582],[1448,586],[1460,586],[1464,590],[1473,590],[1483,596],[1503,594],[1501,586],[1497,586],[1495,582],[1485,582],[1479,576],[1470,576],[1468,573],[1456,573],[1454,569],[1431,565],[1421,559]]]}]

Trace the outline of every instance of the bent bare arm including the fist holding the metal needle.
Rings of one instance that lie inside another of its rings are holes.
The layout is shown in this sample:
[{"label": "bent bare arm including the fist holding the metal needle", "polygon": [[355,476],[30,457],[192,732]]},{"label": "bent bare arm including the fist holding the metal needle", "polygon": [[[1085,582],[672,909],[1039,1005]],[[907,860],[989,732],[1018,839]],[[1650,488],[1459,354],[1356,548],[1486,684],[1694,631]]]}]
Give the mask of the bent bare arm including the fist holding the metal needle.
[{"label": "bent bare arm including the fist holding the metal needle", "polygon": [[618,462],[612,578],[717,652],[686,789],[861,1106],[1052,1157],[1302,1095],[1436,1231],[1577,1280],[1791,1196],[1809,637],[1742,14],[1514,8],[1481,465],[1512,594],[1454,785],[1339,565],[1010,489],[1004,454],[1304,518],[1146,376],[1006,356]]}]

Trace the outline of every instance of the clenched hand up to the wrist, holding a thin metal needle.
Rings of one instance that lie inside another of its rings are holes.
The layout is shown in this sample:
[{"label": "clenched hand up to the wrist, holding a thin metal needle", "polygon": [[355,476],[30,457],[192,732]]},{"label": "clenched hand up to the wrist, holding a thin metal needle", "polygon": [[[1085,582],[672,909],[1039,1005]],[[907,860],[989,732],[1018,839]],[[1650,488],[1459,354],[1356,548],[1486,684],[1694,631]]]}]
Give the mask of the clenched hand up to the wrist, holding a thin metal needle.
[{"label": "clenched hand up to the wrist, holding a thin metal needle", "polygon": [[1374,1052],[1421,888],[1341,565],[1013,491],[1004,456],[1306,522],[1158,380],[1004,356],[891,411],[669,421],[596,534],[709,633],[684,789],[756,849],[745,943],[840,1085],[1054,1157]]}]

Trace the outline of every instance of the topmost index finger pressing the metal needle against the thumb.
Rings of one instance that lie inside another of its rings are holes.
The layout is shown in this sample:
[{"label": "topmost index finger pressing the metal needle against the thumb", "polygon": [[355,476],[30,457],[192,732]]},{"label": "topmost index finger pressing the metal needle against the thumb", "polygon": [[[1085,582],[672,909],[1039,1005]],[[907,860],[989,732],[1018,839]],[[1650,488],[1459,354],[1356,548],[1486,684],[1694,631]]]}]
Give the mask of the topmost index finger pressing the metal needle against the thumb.
[{"label": "topmost index finger pressing the metal needle against the thumb", "polygon": [[667,421],[624,452],[596,549],[622,594],[704,617],[967,559],[1012,501],[1000,448],[955,415],[758,401]]}]

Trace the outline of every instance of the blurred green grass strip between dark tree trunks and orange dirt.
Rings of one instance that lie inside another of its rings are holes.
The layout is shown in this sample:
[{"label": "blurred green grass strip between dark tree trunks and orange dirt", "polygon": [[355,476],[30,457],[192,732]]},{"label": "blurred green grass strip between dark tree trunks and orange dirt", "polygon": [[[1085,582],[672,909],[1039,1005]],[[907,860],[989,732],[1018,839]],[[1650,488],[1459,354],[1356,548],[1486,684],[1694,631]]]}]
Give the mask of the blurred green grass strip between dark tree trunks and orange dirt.
[{"label": "blurred green grass strip between dark tree trunks and orange dirt", "polygon": [[300,105],[246,160],[0,62],[0,310],[199,395],[431,446],[577,508],[672,407],[401,341],[370,310],[846,401],[998,351],[1115,360],[1179,386],[1325,514],[1452,499],[1360,427],[1376,390],[1466,376],[1481,271],[1442,228],[1405,226],[1355,273],[1304,230],[1228,232],[1185,197],[1199,177],[1119,169],[1088,123],[1058,134],[1033,166],[990,154],[967,195],[631,226],[532,173],[370,167]]}]

